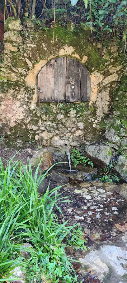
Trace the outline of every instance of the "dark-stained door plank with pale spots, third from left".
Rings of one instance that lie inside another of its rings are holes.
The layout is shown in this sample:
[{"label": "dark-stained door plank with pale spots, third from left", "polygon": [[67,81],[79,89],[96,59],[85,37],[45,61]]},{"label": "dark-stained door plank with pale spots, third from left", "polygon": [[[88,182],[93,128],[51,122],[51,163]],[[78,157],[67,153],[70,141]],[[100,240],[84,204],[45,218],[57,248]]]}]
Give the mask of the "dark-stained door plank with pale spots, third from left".
[{"label": "dark-stained door plank with pale spots, third from left", "polygon": [[80,101],[81,63],[67,58],[66,102]]}]

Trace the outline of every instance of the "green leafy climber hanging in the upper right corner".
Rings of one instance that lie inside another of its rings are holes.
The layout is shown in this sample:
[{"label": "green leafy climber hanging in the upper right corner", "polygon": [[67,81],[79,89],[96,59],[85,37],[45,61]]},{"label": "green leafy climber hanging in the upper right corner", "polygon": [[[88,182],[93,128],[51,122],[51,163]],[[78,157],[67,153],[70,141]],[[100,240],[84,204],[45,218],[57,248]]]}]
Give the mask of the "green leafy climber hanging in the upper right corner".
[{"label": "green leafy climber hanging in the upper right corner", "polygon": [[[81,24],[85,27],[91,28],[93,31],[98,31],[98,27],[103,32],[113,32],[116,26],[116,30],[120,29],[120,32],[124,33],[124,39],[126,38],[127,31],[124,29],[124,25],[127,24],[127,1],[118,0],[83,0],[86,10],[82,13]],[[71,4],[75,5],[78,0],[71,0]],[[78,6],[77,9],[81,7]],[[125,31],[124,31],[125,30]]]}]

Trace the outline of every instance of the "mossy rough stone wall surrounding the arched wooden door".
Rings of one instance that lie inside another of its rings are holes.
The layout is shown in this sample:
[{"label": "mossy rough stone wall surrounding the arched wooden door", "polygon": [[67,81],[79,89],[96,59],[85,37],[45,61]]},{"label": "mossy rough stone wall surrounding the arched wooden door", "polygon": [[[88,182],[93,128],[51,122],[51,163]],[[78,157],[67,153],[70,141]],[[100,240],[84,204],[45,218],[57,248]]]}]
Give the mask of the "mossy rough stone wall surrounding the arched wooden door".
[{"label": "mossy rough stone wall surrounding the arched wooden door", "polygon": [[[106,131],[106,138],[114,144],[117,139],[109,139],[108,131],[113,125],[111,110],[117,104],[115,95],[122,73],[119,46],[111,41],[102,48],[101,43],[89,40],[88,30],[69,33],[66,28],[55,27],[54,34],[52,55],[52,28],[37,31],[30,20],[22,24],[19,19],[6,20],[0,65],[1,136],[10,146],[30,142],[58,149],[64,144],[75,148],[104,141]],[[86,66],[91,75],[90,101],[41,103],[39,110],[37,75],[49,60],[59,56],[76,58]]]}]

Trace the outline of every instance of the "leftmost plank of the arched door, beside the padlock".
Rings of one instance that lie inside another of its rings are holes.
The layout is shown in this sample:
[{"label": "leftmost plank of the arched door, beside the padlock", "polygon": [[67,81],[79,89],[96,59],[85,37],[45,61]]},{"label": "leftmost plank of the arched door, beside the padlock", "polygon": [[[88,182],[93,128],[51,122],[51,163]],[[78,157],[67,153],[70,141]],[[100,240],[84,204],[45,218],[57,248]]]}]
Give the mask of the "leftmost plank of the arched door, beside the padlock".
[{"label": "leftmost plank of the arched door, beside the padlock", "polygon": [[38,87],[40,92],[40,102],[54,101],[54,60],[48,62],[38,74]]}]

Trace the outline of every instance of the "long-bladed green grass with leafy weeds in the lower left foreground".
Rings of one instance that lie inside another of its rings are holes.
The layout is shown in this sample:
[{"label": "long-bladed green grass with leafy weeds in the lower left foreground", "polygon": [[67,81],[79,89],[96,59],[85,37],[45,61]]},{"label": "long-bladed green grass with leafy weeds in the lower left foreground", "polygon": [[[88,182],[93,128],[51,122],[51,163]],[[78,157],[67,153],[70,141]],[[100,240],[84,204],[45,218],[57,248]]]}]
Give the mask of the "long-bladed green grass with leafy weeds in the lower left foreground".
[{"label": "long-bladed green grass with leafy weeds in the lower left foreground", "polygon": [[[58,194],[60,187],[49,190],[48,186],[43,195],[38,194],[38,186],[50,170],[41,174],[39,166],[32,168],[29,160],[24,166],[13,157],[4,168],[0,159],[1,282],[4,277],[9,281],[9,272],[18,265],[26,270],[26,282],[34,277],[40,281],[42,274],[48,282],[59,282],[60,278],[66,283],[77,281],[73,259],[67,257],[63,244],[73,227],[67,226],[68,221],[62,224],[54,214],[54,209],[61,212],[59,203],[68,200]],[[32,248],[23,248],[24,242]],[[24,249],[31,254],[25,261],[21,257]]]}]

